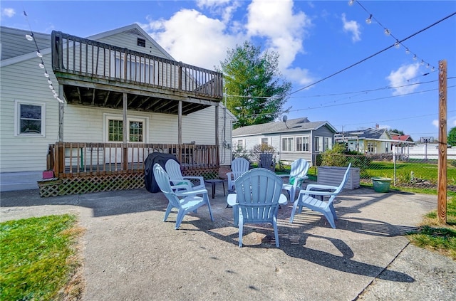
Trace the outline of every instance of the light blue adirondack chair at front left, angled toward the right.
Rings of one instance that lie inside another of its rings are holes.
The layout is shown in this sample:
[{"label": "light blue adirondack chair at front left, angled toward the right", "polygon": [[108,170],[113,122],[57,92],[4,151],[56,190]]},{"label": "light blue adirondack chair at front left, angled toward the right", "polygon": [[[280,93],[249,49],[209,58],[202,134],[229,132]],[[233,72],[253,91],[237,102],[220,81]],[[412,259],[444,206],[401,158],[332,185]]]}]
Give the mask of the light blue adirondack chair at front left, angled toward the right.
[{"label": "light blue adirondack chair at front left, angled toward the right", "polygon": [[[169,203],[166,208],[165,218],[163,221],[166,221],[170,212],[173,208],[177,208],[177,218],[175,229],[179,228],[182,219],[184,219],[185,214],[190,211],[197,212],[197,208],[207,205],[209,208],[209,215],[211,216],[211,221],[214,221],[212,218],[211,204],[209,203],[209,197],[207,196],[206,189],[199,190],[190,190],[190,191],[180,191],[180,186],[187,186],[187,184],[172,186],[170,184],[170,177],[166,173],[165,169],[160,166],[160,164],[155,163],[154,167],[154,176],[155,181],[157,181],[158,186],[163,194],[165,194]],[[202,196],[198,196],[202,195]]]}]

